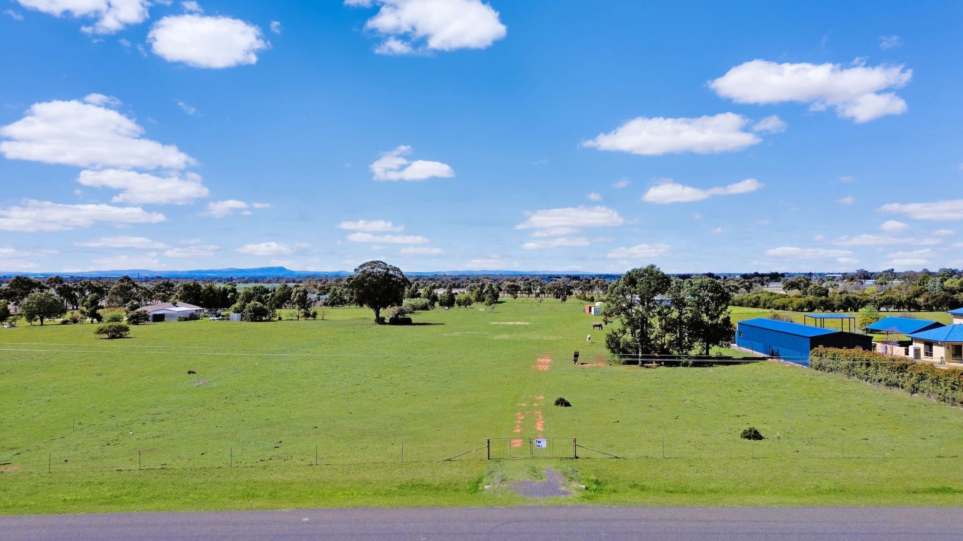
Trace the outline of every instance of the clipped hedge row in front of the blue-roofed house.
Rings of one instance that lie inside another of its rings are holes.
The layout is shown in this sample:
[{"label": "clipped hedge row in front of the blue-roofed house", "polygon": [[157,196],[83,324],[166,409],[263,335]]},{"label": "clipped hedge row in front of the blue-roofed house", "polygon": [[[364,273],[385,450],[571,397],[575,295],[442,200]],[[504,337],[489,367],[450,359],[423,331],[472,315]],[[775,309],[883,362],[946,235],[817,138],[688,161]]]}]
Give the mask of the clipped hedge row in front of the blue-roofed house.
[{"label": "clipped hedge row in front of the blue-roofed house", "polygon": [[963,403],[963,370],[939,369],[904,357],[863,349],[816,348],[810,366],[946,402]]}]

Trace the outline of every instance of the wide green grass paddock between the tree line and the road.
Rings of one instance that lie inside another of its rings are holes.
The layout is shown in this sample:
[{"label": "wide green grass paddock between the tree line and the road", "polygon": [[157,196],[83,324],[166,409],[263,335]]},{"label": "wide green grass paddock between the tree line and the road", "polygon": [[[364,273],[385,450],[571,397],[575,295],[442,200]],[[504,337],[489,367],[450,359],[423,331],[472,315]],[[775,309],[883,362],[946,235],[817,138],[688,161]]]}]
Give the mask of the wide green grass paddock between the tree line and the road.
[{"label": "wide green grass paddock between the tree line and the road", "polygon": [[[959,409],[774,362],[575,367],[606,358],[581,308],[3,330],[0,513],[531,503],[499,485],[545,466],[587,486],[566,503],[963,504]],[[622,458],[442,461],[516,434]]]}]

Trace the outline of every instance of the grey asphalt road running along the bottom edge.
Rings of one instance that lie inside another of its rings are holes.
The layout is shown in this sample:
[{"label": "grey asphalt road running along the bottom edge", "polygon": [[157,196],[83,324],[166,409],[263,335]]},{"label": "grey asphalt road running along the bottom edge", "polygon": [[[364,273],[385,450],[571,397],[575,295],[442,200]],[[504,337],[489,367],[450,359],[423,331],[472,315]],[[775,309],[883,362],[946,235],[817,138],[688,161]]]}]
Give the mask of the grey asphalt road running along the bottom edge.
[{"label": "grey asphalt road running along the bottom edge", "polygon": [[0,539],[963,539],[951,508],[509,507],[0,517]]}]

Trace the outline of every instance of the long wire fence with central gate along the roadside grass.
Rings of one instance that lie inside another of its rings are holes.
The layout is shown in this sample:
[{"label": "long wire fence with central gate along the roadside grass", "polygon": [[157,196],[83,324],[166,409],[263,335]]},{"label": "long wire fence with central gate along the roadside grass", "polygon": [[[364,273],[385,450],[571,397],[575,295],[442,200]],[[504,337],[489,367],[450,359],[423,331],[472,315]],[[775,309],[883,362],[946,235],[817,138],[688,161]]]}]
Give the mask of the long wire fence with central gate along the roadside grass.
[{"label": "long wire fence with central gate along the roadside grass", "polygon": [[[678,434],[647,436],[635,441],[622,440],[607,444],[591,438],[544,438],[548,448],[535,449],[538,437],[498,438],[486,441],[457,440],[445,442],[394,442],[378,444],[358,442],[332,448],[324,440],[317,444],[283,440],[260,444],[226,445],[223,443],[185,448],[156,447],[123,450],[102,446],[91,449],[61,446],[40,447],[6,456],[0,471],[7,473],[81,473],[134,470],[182,470],[206,468],[296,468],[405,463],[482,462],[500,459],[555,458],[571,459],[697,459],[697,460],[899,460],[957,459],[963,451],[963,437],[931,437],[919,440],[897,438],[796,439],[775,435],[760,441],[740,440],[738,435],[726,438],[685,437]],[[512,447],[515,441],[524,442]],[[583,445],[585,444],[585,445]],[[490,448],[488,446],[491,446]],[[578,448],[577,450],[574,448]],[[491,454],[486,451],[491,450]],[[490,456],[490,458],[489,458]]]}]

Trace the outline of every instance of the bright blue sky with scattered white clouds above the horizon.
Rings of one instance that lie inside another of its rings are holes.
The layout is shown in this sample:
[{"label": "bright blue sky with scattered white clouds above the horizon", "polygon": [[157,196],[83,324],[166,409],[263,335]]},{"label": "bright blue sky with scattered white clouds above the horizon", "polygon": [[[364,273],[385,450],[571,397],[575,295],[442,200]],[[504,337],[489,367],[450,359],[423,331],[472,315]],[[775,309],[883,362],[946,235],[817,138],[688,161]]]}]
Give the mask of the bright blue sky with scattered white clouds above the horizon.
[{"label": "bright blue sky with scattered white clouds above the horizon", "polygon": [[0,270],[963,267],[963,6],[12,0]]}]

